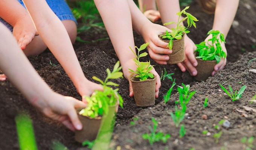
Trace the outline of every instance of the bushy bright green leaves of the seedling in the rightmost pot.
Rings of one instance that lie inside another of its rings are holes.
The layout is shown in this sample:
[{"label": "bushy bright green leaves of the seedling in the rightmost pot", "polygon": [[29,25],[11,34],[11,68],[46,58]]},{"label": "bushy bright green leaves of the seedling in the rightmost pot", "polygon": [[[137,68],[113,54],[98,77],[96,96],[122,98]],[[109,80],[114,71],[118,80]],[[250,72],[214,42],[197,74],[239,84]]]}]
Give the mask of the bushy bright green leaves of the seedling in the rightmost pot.
[{"label": "bushy bright green leaves of the seedling in the rightmost pot", "polygon": [[[196,58],[203,60],[216,60],[217,63],[221,61],[221,58],[226,58],[226,52],[223,51],[221,43],[225,42],[224,35],[219,30],[210,30],[207,35],[212,34],[212,38],[203,41],[200,44],[196,44],[198,52]],[[226,43],[226,42],[225,42]]]}]

